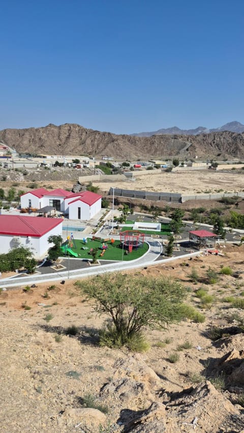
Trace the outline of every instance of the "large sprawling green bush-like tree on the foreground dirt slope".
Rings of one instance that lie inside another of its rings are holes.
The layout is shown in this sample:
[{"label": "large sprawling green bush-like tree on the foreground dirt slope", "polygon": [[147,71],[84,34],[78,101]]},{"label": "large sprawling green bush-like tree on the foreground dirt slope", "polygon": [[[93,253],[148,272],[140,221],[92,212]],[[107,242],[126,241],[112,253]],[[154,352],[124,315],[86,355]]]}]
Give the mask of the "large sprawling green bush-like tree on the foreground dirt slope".
[{"label": "large sprawling green bush-like tree on the foreground dirt slope", "polygon": [[94,309],[107,314],[111,346],[128,345],[145,327],[165,327],[182,318],[185,289],[177,281],[122,273],[105,273],[89,281],[76,283]]}]

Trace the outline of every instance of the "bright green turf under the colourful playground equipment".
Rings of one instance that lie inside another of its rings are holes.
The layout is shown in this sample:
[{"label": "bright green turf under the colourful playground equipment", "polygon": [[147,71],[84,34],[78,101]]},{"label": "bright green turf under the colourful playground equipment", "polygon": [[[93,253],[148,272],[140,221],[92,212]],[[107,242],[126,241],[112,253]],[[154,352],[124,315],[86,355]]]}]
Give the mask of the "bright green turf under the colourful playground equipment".
[{"label": "bright green turf under the colourful playground equipment", "polygon": [[[119,247],[120,241],[115,240],[113,244],[110,243],[110,241],[105,242],[106,245],[108,245],[108,249],[105,251],[104,255],[100,257],[100,254],[102,253],[102,250],[99,250],[98,253],[98,260],[122,260],[122,254],[123,250]],[[76,245],[76,247],[75,247]],[[99,248],[101,245],[100,240],[92,240],[92,238],[87,238],[87,243],[84,244],[83,240],[81,239],[75,239],[75,245],[73,243],[73,246],[71,248],[72,251],[78,254],[78,258],[80,259],[92,259],[93,257],[88,254],[91,248]],[[87,247],[87,250],[82,250],[83,247]],[[148,244],[144,242],[144,245],[142,248],[138,248],[138,250],[133,250],[128,255],[125,254],[124,250],[124,261],[129,260],[135,260],[139,257],[143,256],[145,252],[148,250]],[[70,256],[73,257],[73,256]]]}]

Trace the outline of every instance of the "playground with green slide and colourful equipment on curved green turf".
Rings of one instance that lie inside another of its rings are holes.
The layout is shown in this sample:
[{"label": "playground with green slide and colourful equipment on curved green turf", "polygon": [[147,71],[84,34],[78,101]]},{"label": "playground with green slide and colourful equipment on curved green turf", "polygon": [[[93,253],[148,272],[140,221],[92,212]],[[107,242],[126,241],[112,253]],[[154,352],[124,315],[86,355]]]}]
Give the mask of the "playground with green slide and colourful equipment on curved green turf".
[{"label": "playground with green slide and colourful equipment on curved green turf", "polygon": [[92,260],[92,251],[96,248],[98,249],[97,260],[130,261],[143,256],[148,250],[148,244],[143,242],[129,252],[129,248],[123,246],[120,240],[103,239],[96,236],[74,239],[73,235],[71,235],[67,237],[67,241],[62,245],[62,252],[64,256],[69,255],[79,259]]}]

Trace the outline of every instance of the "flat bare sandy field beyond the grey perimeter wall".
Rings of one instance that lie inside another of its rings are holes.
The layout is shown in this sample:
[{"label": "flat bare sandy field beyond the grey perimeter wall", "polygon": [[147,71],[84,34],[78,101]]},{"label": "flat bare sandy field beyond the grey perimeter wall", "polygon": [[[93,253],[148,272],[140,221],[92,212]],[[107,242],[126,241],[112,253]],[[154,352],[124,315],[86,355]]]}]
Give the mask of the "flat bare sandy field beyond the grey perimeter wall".
[{"label": "flat bare sandy field beyond the grey perimeter wall", "polygon": [[240,192],[244,191],[243,174],[223,173],[220,171],[211,172],[159,172],[156,174],[145,174],[136,176],[135,181],[119,182],[94,182],[101,191],[108,191],[110,187],[127,190],[142,190],[171,193],[205,193],[205,192]]}]

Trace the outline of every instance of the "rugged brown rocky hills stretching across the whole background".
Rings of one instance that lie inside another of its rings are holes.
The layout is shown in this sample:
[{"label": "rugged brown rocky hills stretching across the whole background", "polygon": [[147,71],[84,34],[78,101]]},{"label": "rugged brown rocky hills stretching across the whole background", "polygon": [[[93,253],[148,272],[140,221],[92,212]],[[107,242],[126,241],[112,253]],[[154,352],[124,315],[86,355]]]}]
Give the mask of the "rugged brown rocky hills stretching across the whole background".
[{"label": "rugged brown rocky hills stretching across the whole background", "polygon": [[180,158],[244,158],[244,133],[210,132],[199,135],[162,134],[151,137],[94,131],[75,123],[42,128],[5,129],[0,140],[17,152],[84,155],[117,160]]}]

